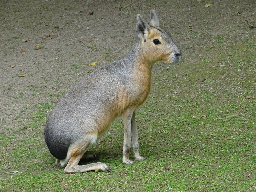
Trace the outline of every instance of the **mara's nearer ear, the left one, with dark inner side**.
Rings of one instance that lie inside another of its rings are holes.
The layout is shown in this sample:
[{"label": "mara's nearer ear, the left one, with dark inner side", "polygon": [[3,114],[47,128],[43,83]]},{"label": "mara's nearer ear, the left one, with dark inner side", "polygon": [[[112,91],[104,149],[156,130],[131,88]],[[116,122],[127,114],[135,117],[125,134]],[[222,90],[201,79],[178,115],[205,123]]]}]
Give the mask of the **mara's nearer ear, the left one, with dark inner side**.
[{"label": "mara's nearer ear, the left one, with dark inner side", "polygon": [[137,15],[137,35],[138,37],[146,42],[146,38],[149,35],[151,28],[148,25],[148,23],[142,18],[142,16],[140,16],[139,14]]}]

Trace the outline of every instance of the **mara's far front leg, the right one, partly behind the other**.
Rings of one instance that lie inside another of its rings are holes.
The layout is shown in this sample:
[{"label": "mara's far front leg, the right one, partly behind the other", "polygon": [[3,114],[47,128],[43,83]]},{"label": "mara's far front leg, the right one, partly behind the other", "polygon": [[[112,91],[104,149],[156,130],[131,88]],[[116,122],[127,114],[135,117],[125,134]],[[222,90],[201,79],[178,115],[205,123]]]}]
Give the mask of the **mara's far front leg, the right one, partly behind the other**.
[{"label": "mara's far front leg, the right one, partly behind the other", "polygon": [[136,122],[135,122],[135,111],[132,114],[131,129],[132,129],[133,156],[136,160],[143,161],[146,158],[140,156],[139,154],[139,138],[138,138],[138,129],[136,127]]}]

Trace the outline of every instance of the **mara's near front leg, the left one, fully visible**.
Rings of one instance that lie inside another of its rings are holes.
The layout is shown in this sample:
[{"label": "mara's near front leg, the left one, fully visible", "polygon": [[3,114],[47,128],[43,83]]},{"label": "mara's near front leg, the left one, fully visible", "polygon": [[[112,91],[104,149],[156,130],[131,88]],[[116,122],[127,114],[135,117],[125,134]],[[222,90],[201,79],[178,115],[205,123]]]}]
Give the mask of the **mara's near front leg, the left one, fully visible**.
[{"label": "mara's near front leg, the left one, fully visible", "polygon": [[123,146],[123,163],[124,164],[132,164],[134,161],[129,159],[129,151],[131,148],[131,141],[132,141],[132,116],[133,116],[132,109],[126,109],[123,115],[123,122],[124,122],[124,146]]}]

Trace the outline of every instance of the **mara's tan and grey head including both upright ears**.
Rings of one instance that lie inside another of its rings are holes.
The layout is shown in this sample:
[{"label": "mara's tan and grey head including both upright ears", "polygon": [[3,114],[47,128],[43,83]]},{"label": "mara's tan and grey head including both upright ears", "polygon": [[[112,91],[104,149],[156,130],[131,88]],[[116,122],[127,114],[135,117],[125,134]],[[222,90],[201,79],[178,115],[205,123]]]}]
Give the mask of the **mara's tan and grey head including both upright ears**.
[{"label": "mara's tan and grey head including both upright ears", "polygon": [[172,38],[159,27],[157,13],[150,11],[151,18],[147,23],[142,16],[137,15],[137,35],[142,45],[143,53],[152,61],[165,61],[166,63],[178,63],[180,61],[180,49],[174,44]]}]

